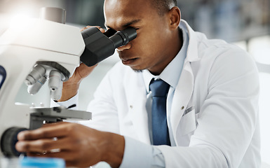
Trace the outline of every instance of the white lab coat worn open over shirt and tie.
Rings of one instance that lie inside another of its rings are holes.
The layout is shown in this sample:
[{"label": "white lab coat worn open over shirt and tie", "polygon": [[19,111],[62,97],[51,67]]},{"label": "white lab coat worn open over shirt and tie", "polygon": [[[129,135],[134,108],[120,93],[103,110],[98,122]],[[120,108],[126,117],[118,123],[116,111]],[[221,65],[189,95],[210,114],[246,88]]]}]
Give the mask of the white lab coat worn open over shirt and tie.
[{"label": "white lab coat worn open over shirt and tie", "polygon": [[[208,40],[184,20],[181,25],[189,47],[168,114],[177,146],[158,146],[166,167],[259,167],[259,79],[252,57]],[[116,64],[97,87],[88,106],[93,121],[85,124],[150,144],[146,95],[142,74]]]}]

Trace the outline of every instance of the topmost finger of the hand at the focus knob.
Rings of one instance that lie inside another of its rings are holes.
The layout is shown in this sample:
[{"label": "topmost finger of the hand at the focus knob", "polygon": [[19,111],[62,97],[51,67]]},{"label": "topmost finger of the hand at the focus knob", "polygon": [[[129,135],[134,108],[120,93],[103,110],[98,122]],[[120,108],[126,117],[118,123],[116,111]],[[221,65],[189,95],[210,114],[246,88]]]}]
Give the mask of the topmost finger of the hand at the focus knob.
[{"label": "topmost finger of the hand at the focus knob", "polygon": [[18,134],[18,140],[36,140],[36,139],[49,139],[54,137],[64,137],[67,133],[67,123],[55,123],[46,125],[36,130],[27,130]]}]

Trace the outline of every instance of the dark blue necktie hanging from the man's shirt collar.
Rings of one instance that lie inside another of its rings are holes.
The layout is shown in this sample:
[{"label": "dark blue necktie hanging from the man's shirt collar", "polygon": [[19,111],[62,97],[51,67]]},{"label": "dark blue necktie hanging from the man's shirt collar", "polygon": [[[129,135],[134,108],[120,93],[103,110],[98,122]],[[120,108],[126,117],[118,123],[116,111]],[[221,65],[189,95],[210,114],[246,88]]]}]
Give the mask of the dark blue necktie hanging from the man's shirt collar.
[{"label": "dark blue necktie hanging from the man's shirt collar", "polygon": [[153,95],[151,107],[153,144],[170,146],[166,115],[166,99],[170,85],[161,79],[153,79],[149,87]]}]

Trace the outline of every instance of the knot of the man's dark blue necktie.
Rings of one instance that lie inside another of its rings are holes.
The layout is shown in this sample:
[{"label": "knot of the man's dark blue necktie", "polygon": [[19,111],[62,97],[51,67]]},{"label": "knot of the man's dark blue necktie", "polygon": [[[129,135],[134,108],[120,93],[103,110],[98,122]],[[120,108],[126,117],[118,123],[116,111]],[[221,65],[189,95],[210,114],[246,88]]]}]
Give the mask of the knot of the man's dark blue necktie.
[{"label": "knot of the man's dark blue necktie", "polygon": [[154,97],[166,97],[170,85],[163,80],[158,79],[152,80],[149,87]]}]

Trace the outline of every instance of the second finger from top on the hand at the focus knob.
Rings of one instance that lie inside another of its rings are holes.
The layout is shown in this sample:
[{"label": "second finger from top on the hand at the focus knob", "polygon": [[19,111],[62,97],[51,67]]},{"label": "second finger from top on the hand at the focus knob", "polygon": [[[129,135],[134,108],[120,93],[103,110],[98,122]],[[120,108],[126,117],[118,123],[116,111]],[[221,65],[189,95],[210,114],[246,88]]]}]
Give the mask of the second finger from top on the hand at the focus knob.
[{"label": "second finger from top on the hand at the focus knob", "polygon": [[43,153],[44,151],[52,151],[58,149],[69,150],[72,148],[72,144],[69,139],[39,139],[36,141],[18,141],[15,144],[15,148],[19,152],[34,152],[34,153]]}]

